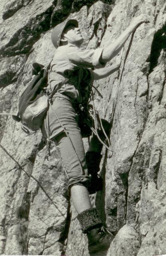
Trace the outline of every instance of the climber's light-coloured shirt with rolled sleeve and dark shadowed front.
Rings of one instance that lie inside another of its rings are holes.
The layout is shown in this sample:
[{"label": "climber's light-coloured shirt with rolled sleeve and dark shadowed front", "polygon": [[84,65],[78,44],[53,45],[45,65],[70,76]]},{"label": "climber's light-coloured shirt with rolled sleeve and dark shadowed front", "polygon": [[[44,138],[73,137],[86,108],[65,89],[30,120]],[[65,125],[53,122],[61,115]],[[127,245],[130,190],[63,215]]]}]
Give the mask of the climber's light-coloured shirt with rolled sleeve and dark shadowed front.
[{"label": "climber's light-coloured shirt with rolled sleeve and dark shadowed front", "polygon": [[57,48],[51,62],[51,72],[49,75],[51,90],[56,90],[59,81],[72,73],[70,82],[62,85],[61,88],[57,87],[57,93],[64,94],[77,100],[77,102],[81,102],[81,86],[83,86],[84,82],[93,83],[91,68],[103,67],[100,63],[102,51],[103,48],[87,50],[72,45]]}]

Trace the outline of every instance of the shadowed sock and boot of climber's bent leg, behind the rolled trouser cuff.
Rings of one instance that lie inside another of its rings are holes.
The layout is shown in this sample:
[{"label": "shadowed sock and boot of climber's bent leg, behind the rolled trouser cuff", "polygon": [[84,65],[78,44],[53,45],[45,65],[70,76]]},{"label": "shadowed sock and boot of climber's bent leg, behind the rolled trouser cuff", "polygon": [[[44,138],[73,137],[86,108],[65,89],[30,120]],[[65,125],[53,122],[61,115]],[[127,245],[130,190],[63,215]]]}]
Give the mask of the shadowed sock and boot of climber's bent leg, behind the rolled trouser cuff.
[{"label": "shadowed sock and boot of climber's bent leg, behind the rolled trouser cuff", "polygon": [[86,165],[89,174],[91,174],[91,184],[88,188],[90,194],[94,194],[97,191],[102,190],[103,187],[103,179],[98,174],[100,171],[101,159],[102,155],[98,152],[86,152]]}]

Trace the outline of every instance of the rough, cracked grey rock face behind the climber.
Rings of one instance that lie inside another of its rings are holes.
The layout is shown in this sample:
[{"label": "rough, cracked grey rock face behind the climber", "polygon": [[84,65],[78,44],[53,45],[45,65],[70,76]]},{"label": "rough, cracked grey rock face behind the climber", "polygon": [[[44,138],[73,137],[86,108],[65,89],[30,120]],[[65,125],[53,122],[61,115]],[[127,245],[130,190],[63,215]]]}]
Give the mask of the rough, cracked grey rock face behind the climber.
[{"label": "rough, cracked grey rock face behind the climber", "polygon": [[[48,64],[54,54],[53,26],[77,18],[84,47],[105,47],[141,13],[150,22],[121,50],[121,70],[95,82],[113,152],[103,149],[105,186],[91,196],[115,236],[107,256],[166,254],[165,0],[2,0],[0,6],[0,112],[10,113],[17,112],[31,64]],[[11,116],[0,116],[0,126],[0,144],[13,158],[0,148],[0,254],[88,256],[59,150],[52,146],[47,161],[40,131],[25,134]]]}]

